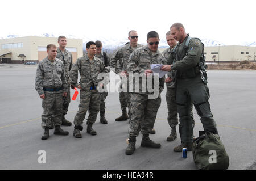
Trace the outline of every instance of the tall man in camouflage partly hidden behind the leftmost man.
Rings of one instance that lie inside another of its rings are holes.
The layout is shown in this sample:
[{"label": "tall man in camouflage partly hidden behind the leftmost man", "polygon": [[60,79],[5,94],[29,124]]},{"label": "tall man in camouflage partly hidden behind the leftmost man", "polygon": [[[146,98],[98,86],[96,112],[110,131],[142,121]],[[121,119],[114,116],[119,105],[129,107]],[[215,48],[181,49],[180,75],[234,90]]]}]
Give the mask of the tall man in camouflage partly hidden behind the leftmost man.
[{"label": "tall man in camouflage partly hidden behind the leftmost man", "polygon": [[67,115],[68,112],[68,106],[70,103],[70,81],[69,81],[69,70],[72,68],[72,54],[69,52],[65,47],[67,45],[67,39],[65,36],[59,36],[58,38],[58,44],[59,47],[57,49],[57,58],[61,60],[64,64],[65,68],[65,75],[66,75],[66,80],[68,84],[68,95],[67,97],[63,97],[63,115],[62,115],[62,125],[65,126],[71,126],[72,123],[65,119],[65,115]]}]

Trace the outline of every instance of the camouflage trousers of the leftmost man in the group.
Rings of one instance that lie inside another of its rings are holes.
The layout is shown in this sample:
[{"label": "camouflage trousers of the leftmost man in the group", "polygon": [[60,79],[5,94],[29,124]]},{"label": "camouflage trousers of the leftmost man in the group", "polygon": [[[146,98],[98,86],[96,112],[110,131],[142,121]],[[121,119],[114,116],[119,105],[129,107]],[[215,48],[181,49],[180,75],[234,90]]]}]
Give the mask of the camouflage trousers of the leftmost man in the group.
[{"label": "camouflage trousers of the leftmost man in the group", "polygon": [[42,101],[42,128],[50,127],[52,122],[54,126],[61,125],[63,92],[53,93],[44,91],[45,98]]}]

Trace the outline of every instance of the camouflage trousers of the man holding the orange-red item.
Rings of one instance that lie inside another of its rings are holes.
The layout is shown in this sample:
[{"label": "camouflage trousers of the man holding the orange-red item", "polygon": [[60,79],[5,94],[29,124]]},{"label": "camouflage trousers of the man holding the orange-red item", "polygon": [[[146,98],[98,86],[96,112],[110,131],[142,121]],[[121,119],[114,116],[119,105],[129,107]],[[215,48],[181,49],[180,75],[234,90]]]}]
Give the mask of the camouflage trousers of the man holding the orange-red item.
[{"label": "camouflage trousers of the man holding the orange-red item", "polygon": [[95,123],[100,111],[100,93],[96,89],[80,90],[79,111],[77,111],[74,119],[75,126],[83,124],[87,110],[89,112],[88,122]]}]

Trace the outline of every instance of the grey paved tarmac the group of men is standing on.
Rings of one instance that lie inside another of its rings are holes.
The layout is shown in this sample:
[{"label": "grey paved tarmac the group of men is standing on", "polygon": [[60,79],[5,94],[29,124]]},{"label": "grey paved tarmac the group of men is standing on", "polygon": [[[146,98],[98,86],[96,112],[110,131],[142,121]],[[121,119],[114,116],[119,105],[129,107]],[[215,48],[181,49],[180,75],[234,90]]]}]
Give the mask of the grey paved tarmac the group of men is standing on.
[{"label": "grey paved tarmac the group of men is standing on", "polygon": [[[82,138],[73,137],[77,99],[71,100],[66,116],[72,121],[72,127],[62,127],[69,135],[56,136],[51,130],[49,139],[41,140],[43,108],[34,88],[36,66],[0,64],[0,169],[197,169],[192,151],[188,151],[187,159],[173,151],[180,145],[179,136],[175,141],[166,141],[171,131],[167,123],[166,90],[162,92],[162,104],[155,121],[156,134],[150,135],[151,140],[162,145],[160,149],[142,148],[140,134],[134,154],[125,154],[129,123],[115,121],[121,115],[117,92],[109,93],[106,99],[108,124],[101,124],[98,115],[93,125],[96,136],[86,133],[85,119]],[[208,70],[209,102],[229,155],[229,169],[256,169],[255,79],[256,71]],[[71,96],[73,92],[71,90]],[[195,109],[194,115],[194,134],[198,137],[203,126]],[[40,150],[46,153],[46,163],[39,163]]]}]

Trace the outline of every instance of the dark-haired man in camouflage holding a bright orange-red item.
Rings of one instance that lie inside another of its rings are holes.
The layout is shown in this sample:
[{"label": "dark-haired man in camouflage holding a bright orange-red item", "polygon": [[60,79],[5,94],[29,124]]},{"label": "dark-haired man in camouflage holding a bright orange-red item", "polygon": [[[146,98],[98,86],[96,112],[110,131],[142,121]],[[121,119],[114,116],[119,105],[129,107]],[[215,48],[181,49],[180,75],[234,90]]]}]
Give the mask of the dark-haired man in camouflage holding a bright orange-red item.
[{"label": "dark-haired man in camouflage holding a bright orange-red item", "polygon": [[[100,93],[98,92],[98,86],[103,86],[98,81],[98,74],[101,72],[106,73],[106,79],[108,79],[108,71],[106,70],[104,63],[95,56],[96,45],[94,42],[89,41],[86,44],[87,54],[77,59],[73,65],[69,77],[71,79],[71,85],[81,89],[80,90],[80,104],[79,111],[74,119],[74,132],[73,135],[76,138],[81,138],[82,124],[85,119],[87,110],[89,110],[87,133],[96,135],[96,131],[93,130],[92,125],[97,119],[98,111],[100,110]],[[77,83],[78,72],[80,73],[80,82]]]}]

